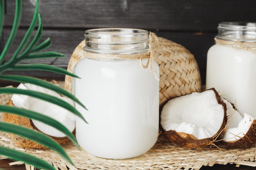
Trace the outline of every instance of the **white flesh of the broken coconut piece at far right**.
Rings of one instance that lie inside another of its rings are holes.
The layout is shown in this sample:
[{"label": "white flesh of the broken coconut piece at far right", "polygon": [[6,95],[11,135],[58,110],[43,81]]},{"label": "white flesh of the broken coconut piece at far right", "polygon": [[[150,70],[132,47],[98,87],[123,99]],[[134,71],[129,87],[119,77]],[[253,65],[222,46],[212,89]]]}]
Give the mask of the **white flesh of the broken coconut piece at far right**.
[{"label": "white flesh of the broken coconut piece at far right", "polygon": [[244,117],[240,115],[238,110],[234,109],[233,105],[228,102],[226,99],[221,98],[227,106],[227,130],[225,130],[223,141],[233,142],[237,141],[243,137],[251,128],[254,121],[254,116],[251,114],[244,113]]}]

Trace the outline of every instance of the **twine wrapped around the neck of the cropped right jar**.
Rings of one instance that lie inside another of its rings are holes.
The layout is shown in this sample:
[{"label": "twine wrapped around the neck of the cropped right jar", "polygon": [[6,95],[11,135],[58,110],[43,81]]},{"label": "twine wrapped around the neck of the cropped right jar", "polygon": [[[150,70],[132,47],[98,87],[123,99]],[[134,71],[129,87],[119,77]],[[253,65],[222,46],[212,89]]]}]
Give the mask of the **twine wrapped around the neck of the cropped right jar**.
[{"label": "twine wrapped around the neck of the cropped right jar", "polygon": [[215,38],[214,40],[216,44],[220,44],[223,46],[231,46],[234,49],[245,49],[256,54],[256,42],[241,42],[240,40],[237,40],[236,42],[233,42],[233,41],[231,42],[231,41],[220,40],[218,38]]}]

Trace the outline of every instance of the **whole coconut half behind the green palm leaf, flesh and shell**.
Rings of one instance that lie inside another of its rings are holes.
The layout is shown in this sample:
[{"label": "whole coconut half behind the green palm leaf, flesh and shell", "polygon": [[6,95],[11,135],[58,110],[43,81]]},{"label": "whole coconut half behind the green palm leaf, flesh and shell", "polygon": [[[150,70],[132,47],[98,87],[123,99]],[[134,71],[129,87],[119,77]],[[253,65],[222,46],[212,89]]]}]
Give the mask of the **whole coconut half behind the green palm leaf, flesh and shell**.
[{"label": "whole coconut half behind the green palm leaf, flesh and shell", "polygon": [[[33,91],[42,92],[48,95],[52,95],[54,97],[63,99],[63,101],[74,106],[74,102],[71,99],[63,97],[58,93],[51,91],[47,88],[43,88],[33,84],[22,84],[22,83],[17,88],[33,90]],[[49,116],[59,121],[68,130],[70,130],[70,132],[73,132],[73,134],[75,134],[75,118],[76,118],[75,115],[60,106],[43,101],[41,99],[37,99],[27,95],[19,95],[19,94],[13,94],[13,96],[11,97],[11,100],[7,104],[9,106],[24,108],[27,110],[36,111],[43,115]],[[10,114],[10,113],[4,113],[4,121],[22,125],[22,126],[43,132],[49,137],[51,137],[52,139],[56,140],[59,144],[65,144],[67,141],[69,141],[69,139],[65,136],[65,134],[63,134],[63,132],[37,120],[29,119],[27,117],[22,117],[22,116]],[[44,146],[37,144],[34,141],[25,139],[23,137],[19,137],[17,135],[10,134],[10,137],[13,139],[13,141],[16,142],[16,144],[25,148],[37,148],[37,149],[45,148]]]}]

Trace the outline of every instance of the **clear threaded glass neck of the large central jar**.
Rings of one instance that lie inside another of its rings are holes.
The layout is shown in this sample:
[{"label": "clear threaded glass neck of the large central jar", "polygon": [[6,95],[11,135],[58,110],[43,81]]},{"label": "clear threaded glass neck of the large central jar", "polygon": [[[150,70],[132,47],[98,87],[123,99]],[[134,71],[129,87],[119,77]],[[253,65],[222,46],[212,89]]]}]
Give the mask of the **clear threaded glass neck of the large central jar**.
[{"label": "clear threaded glass neck of the large central jar", "polygon": [[142,29],[89,29],[85,31],[84,51],[102,54],[149,52],[148,31]]}]

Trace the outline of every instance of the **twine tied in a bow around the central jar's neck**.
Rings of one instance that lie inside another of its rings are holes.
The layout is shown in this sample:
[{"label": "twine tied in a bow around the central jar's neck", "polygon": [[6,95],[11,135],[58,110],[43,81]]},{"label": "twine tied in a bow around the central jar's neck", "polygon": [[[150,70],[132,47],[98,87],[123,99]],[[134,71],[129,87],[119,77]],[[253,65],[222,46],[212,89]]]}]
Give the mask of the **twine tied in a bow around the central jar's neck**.
[{"label": "twine tied in a bow around the central jar's neck", "polygon": [[[154,73],[155,78],[159,81],[159,78],[155,71],[154,66],[154,55],[155,51],[159,46],[159,42],[157,40],[157,36],[155,33],[149,33],[149,51],[147,53],[135,53],[135,54],[101,54],[101,53],[90,53],[88,51],[83,51],[83,55],[88,59],[103,59],[103,60],[140,60],[141,66],[143,68],[148,68],[150,64],[150,71]],[[143,64],[143,59],[148,59],[146,64]]]}]

